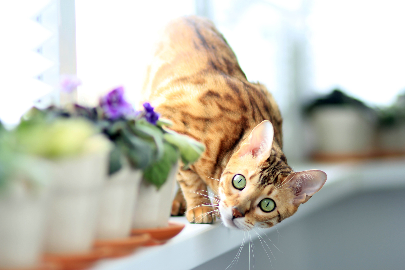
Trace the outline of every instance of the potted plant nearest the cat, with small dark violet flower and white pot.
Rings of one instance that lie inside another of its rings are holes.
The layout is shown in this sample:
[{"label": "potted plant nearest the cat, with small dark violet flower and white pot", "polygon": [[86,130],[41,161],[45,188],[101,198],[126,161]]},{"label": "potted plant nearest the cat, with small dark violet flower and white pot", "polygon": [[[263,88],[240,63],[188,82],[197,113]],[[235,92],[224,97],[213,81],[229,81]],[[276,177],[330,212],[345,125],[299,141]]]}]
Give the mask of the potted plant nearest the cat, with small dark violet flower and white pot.
[{"label": "potted plant nearest the cat, with small dark violet flower and white pot", "polygon": [[145,121],[137,123],[139,131],[153,135],[160,146],[158,158],[145,168],[134,215],[134,228],[167,227],[174,197],[178,160],[188,168],[204,152],[198,141],[167,128],[168,122],[158,120],[158,114],[149,103],[144,104]]}]

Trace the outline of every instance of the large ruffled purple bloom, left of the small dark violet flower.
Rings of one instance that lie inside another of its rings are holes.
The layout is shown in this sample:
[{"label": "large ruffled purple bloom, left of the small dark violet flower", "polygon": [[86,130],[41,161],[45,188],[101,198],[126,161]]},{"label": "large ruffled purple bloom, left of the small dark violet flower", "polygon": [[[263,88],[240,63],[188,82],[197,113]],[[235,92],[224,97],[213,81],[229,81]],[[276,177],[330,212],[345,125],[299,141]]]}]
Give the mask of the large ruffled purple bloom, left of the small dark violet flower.
[{"label": "large ruffled purple bloom, left of the small dark violet flower", "polygon": [[111,120],[130,116],[134,113],[132,105],[124,99],[124,88],[122,86],[115,88],[100,98],[100,107],[105,116]]}]

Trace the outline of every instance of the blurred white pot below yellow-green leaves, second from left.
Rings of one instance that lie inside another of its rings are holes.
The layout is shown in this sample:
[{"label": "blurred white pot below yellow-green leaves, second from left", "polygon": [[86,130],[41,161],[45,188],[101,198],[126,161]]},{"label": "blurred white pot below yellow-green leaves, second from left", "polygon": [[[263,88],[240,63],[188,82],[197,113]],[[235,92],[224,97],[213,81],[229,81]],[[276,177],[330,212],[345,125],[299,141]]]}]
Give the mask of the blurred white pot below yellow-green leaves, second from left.
[{"label": "blurred white pot below yellow-green leaves, second from left", "polygon": [[99,152],[53,163],[45,238],[48,253],[80,253],[92,248],[107,161],[108,152]]}]

